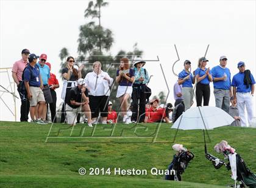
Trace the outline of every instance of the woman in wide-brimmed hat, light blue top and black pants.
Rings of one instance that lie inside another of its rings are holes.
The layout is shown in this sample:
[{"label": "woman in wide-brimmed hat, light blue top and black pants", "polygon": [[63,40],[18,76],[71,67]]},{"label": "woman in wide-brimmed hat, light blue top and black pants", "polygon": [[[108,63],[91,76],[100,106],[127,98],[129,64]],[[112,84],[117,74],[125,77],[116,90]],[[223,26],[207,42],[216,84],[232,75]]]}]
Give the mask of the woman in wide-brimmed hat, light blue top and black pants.
[{"label": "woman in wide-brimmed hat, light blue top and black pants", "polygon": [[[135,67],[134,75],[135,81],[132,85],[132,123],[144,122],[145,119],[145,109],[146,109],[146,84],[149,82],[149,76],[146,69],[143,69],[143,65],[146,62],[141,58],[135,59],[133,66]],[[140,99],[140,100],[139,100]],[[138,112],[138,106],[139,112]]]}]

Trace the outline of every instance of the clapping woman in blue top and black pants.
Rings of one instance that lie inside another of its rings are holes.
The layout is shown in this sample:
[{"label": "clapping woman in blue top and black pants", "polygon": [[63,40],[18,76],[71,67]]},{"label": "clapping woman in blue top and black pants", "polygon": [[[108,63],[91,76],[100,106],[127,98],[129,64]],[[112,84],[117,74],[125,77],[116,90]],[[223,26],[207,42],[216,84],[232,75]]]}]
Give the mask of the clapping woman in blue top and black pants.
[{"label": "clapping woman in blue top and black pants", "polygon": [[210,101],[210,82],[213,81],[210,68],[205,68],[207,59],[202,57],[199,59],[198,68],[195,70],[196,75],[196,106],[202,106],[202,98],[204,98],[204,106],[209,105]]}]

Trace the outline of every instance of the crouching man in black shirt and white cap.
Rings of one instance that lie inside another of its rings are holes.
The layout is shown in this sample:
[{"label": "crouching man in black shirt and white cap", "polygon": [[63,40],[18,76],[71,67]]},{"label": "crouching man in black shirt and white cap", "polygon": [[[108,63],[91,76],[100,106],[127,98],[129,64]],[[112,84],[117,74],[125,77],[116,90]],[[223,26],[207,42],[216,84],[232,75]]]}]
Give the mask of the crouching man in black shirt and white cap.
[{"label": "crouching man in black shirt and white cap", "polygon": [[67,96],[66,103],[66,116],[68,124],[74,126],[76,124],[77,113],[81,110],[88,118],[88,126],[93,127],[91,124],[91,110],[89,106],[88,89],[85,88],[85,82],[83,78],[77,80],[77,86],[73,87]]}]

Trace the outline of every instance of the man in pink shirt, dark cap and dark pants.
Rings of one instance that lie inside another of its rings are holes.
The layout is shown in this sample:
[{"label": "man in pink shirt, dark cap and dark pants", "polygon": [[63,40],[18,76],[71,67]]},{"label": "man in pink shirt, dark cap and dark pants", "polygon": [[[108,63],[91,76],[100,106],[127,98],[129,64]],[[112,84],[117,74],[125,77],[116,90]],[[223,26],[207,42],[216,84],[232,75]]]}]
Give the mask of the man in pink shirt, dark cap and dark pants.
[{"label": "man in pink shirt, dark cap and dark pants", "polygon": [[[17,87],[20,87],[20,82],[22,81],[23,70],[25,69],[29,58],[29,50],[23,49],[21,51],[21,59],[16,61],[12,67],[12,78],[17,84]],[[19,89],[18,89],[19,90]],[[21,118],[20,121],[27,121],[29,119],[29,100],[21,98]]]}]

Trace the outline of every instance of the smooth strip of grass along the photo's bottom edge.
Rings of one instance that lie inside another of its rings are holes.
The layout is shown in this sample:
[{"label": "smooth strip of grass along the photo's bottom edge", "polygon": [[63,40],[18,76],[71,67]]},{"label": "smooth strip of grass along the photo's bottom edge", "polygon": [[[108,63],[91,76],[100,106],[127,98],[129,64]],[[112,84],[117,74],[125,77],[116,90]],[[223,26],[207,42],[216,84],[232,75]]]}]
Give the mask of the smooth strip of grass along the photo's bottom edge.
[{"label": "smooth strip of grass along the photo's bottom edge", "polygon": [[163,181],[141,178],[116,178],[103,176],[47,176],[13,175],[0,176],[1,187],[182,187],[182,188],[221,188],[207,184],[185,181]]}]

